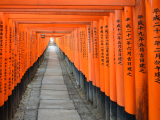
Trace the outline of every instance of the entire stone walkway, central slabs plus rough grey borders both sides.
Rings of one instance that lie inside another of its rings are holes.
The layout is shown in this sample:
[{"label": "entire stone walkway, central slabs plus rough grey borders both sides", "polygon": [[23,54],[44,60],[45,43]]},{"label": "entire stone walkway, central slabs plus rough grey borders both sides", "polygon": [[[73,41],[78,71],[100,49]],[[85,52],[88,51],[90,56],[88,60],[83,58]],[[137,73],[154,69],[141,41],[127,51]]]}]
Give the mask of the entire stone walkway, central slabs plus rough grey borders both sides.
[{"label": "entire stone walkway, central slabs plus rough grey borders both sides", "polygon": [[101,120],[53,42],[44,56],[12,120]]}]

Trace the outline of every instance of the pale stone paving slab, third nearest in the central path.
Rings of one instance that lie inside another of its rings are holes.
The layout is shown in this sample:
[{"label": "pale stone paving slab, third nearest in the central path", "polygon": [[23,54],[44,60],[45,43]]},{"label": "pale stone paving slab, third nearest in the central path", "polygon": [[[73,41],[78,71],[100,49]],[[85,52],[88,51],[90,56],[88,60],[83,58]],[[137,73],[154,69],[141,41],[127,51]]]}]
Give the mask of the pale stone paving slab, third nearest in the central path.
[{"label": "pale stone paving slab, third nearest in the central path", "polygon": [[67,91],[41,90],[40,98],[69,100],[69,95]]}]

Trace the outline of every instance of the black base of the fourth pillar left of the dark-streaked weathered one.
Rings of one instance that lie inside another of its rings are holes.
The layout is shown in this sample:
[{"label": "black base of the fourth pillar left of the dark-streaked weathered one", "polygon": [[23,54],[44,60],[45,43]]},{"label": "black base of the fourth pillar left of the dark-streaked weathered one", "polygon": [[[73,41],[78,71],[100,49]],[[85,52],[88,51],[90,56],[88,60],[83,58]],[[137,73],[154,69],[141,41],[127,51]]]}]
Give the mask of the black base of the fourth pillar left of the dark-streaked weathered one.
[{"label": "black base of the fourth pillar left of the dark-streaked weathered one", "polygon": [[105,95],[105,120],[110,120],[110,97]]}]

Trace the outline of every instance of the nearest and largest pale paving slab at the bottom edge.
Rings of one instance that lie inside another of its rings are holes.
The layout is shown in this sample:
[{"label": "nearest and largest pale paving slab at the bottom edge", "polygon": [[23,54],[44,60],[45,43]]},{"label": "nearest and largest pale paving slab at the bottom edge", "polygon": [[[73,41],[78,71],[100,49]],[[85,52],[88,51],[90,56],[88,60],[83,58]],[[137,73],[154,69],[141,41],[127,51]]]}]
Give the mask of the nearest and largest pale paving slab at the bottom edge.
[{"label": "nearest and largest pale paving slab at the bottom edge", "polygon": [[81,120],[76,110],[39,109],[38,120]]}]

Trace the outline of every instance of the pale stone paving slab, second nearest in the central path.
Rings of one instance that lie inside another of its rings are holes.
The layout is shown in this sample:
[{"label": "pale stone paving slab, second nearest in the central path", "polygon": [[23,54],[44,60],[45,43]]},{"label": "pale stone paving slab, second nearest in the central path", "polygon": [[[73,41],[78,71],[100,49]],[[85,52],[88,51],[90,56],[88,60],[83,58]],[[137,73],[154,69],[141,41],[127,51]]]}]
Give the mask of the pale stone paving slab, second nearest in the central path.
[{"label": "pale stone paving slab, second nearest in the central path", "polygon": [[74,104],[72,100],[41,100],[40,109],[68,109],[74,110]]}]

